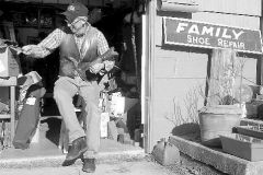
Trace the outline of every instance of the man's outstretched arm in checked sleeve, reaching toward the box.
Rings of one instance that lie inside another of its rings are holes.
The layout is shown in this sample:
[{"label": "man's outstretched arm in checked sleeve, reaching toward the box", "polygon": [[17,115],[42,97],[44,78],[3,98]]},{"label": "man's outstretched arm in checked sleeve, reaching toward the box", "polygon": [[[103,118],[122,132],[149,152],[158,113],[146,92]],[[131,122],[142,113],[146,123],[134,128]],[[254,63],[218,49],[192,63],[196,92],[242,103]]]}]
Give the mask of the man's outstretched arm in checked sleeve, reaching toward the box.
[{"label": "man's outstretched arm in checked sleeve, reaching toward the box", "polygon": [[65,33],[60,28],[57,28],[38,45],[26,45],[22,47],[23,54],[34,58],[44,58],[61,44],[64,35]]}]

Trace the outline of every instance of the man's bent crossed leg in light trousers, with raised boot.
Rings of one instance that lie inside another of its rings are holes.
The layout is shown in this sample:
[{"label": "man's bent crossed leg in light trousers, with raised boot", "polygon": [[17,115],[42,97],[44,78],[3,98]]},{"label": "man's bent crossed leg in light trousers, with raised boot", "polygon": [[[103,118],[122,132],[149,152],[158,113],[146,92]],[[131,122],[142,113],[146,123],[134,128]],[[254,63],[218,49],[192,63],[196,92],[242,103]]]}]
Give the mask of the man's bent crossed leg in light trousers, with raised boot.
[{"label": "man's bent crossed leg in light trousers, with raised boot", "polygon": [[69,143],[72,144],[68,151],[64,165],[72,164],[88,149],[85,133],[79,124],[72,104],[72,97],[77,92],[78,86],[73,79],[61,77],[55,83],[54,98],[56,100],[66,128],[69,130]]}]

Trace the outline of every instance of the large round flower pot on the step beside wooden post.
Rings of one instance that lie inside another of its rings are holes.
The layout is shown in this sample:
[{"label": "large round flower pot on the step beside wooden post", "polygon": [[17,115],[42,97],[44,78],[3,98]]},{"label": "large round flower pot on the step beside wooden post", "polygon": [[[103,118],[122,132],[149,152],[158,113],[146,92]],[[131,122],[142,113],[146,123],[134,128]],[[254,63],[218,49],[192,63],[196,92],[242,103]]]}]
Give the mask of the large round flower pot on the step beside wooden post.
[{"label": "large round flower pot on the step beside wooden post", "polygon": [[201,141],[208,147],[221,147],[219,135],[232,133],[240,125],[242,109],[236,105],[205,106],[199,110]]}]

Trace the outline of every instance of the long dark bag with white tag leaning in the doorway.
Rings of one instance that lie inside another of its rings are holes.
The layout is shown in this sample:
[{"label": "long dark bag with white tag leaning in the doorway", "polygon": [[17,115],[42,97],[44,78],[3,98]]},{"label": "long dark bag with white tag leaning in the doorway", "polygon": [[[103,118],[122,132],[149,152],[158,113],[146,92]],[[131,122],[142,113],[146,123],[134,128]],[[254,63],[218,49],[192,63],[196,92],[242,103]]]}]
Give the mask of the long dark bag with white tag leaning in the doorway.
[{"label": "long dark bag with white tag leaning in the doorway", "polygon": [[28,88],[13,138],[15,149],[24,150],[30,147],[39,121],[41,97],[44,94],[45,89],[39,84],[33,84]]}]

